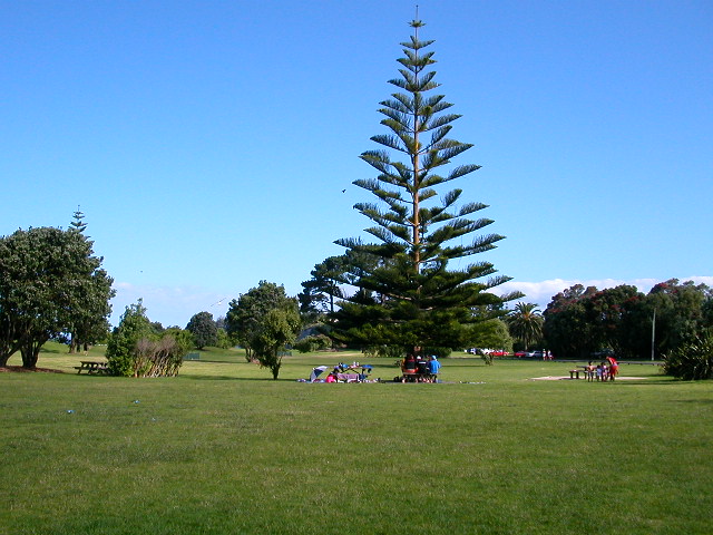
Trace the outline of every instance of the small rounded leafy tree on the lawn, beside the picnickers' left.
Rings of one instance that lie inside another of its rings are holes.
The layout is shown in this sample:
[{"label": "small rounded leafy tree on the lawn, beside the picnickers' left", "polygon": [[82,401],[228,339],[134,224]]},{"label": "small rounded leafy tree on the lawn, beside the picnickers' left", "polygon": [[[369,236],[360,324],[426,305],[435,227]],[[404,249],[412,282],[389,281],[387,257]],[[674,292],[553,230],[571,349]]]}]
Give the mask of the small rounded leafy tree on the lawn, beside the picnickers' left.
[{"label": "small rounded leafy tree on the lawn, beside the picnickers' left", "polygon": [[245,348],[246,358],[270,368],[277,379],[282,351],[300,330],[297,300],[289,298],[282,285],[261,281],[237,300],[232,300],[225,318],[228,334]]}]

